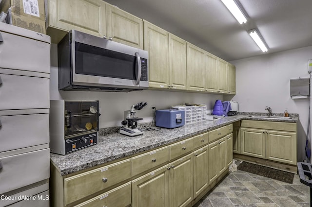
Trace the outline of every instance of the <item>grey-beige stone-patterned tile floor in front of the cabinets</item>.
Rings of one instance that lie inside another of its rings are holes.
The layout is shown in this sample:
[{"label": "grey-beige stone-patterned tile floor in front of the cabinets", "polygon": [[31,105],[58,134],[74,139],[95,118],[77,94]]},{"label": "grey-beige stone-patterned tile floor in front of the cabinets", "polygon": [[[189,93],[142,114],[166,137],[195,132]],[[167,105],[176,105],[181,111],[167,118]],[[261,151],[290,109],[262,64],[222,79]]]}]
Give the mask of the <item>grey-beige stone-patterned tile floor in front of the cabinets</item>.
[{"label": "grey-beige stone-patterned tile floor in front of the cabinets", "polygon": [[237,170],[194,207],[309,207],[310,188],[295,174],[292,184]]}]

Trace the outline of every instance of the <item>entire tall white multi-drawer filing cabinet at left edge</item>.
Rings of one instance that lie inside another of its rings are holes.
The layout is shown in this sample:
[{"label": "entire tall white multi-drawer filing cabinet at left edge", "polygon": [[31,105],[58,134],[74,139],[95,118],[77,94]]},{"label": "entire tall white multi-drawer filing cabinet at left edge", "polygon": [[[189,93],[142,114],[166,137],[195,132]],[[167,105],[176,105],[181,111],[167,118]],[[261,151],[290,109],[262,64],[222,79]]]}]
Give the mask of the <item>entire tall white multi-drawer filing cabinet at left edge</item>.
[{"label": "entire tall white multi-drawer filing cabinet at left edge", "polygon": [[50,68],[50,36],[0,23],[1,207],[49,206]]}]

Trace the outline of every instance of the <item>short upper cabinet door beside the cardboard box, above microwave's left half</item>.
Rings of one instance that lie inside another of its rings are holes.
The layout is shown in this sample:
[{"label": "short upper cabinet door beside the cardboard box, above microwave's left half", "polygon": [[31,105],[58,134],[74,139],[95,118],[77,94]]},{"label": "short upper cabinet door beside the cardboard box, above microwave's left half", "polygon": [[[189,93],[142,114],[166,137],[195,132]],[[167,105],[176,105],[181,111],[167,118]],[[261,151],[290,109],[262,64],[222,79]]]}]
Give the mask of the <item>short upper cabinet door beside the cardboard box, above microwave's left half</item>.
[{"label": "short upper cabinet door beside the cardboard box, above microwave's left half", "polygon": [[49,0],[48,2],[49,27],[66,32],[73,29],[97,36],[106,34],[106,3],[104,1]]}]

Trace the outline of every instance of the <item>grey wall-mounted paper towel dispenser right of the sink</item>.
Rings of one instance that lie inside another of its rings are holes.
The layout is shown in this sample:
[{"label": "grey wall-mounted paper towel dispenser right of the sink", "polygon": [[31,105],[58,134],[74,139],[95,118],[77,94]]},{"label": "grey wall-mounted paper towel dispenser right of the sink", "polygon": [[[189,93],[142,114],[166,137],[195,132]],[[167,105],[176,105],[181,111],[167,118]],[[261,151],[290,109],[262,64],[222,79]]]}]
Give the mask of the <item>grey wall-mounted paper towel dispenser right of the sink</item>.
[{"label": "grey wall-mounted paper towel dispenser right of the sink", "polygon": [[292,99],[308,98],[310,95],[310,78],[291,79]]}]

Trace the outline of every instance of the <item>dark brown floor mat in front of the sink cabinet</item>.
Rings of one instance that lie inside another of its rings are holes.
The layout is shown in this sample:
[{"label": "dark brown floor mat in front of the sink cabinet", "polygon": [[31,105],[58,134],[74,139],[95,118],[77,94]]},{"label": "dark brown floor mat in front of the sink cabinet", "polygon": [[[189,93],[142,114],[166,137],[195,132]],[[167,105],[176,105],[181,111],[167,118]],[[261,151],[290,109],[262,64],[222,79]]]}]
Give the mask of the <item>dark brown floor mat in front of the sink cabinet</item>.
[{"label": "dark brown floor mat in front of the sink cabinet", "polygon": [[237,167],[238,170],[245,171],[248,173],[254,173],[257,175],[261,175],[264,177],[272,178],[275,180],[279,180],[285,183],[292,184],[293,181],[293,173],[276,170],[273,168],[252,164],[249,162],[242,162]]}]

